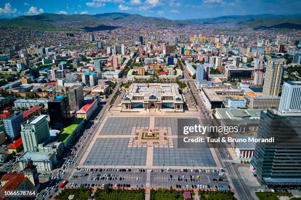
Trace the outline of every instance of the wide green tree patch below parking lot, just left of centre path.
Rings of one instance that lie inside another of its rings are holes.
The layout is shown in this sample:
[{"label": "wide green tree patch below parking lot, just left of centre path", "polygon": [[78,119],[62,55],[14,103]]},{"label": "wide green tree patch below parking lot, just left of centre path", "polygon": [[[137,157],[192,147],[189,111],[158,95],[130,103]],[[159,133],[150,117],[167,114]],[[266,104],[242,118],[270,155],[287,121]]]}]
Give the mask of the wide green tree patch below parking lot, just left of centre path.
[{"label": "wide green tree patch below parking lot, just left of centre path", "polygon": [[97,189],[95,200],[144,200],[145,191],[141,190],[113,190],[111,188]]}]

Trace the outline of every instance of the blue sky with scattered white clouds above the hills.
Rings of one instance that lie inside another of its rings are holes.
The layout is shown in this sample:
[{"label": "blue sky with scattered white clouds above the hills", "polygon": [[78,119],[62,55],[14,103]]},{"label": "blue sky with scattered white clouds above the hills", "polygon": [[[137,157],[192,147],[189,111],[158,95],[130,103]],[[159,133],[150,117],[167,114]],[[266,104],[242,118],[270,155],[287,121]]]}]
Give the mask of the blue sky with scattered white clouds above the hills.
[{"label": "blue sky with scattered white clouds above the hills", "polygon": [[126,12],[168,19],[224,15],[299,14],[300,0],[0,0],[0,18],[40,13]]}]

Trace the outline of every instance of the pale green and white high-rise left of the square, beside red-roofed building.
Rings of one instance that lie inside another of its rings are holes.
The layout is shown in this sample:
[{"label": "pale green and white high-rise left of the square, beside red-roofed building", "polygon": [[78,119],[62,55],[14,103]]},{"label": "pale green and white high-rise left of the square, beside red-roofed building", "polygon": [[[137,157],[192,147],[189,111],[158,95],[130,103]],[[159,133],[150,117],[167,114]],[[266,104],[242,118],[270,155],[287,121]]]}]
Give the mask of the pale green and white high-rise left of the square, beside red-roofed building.
[{"label": "pale green and white high-rise left of the square, beside red-roofed building", "polygon": [[36,152],[38,144],[49,140],[47,115],[33,116],[21,125],[24,151]]}]

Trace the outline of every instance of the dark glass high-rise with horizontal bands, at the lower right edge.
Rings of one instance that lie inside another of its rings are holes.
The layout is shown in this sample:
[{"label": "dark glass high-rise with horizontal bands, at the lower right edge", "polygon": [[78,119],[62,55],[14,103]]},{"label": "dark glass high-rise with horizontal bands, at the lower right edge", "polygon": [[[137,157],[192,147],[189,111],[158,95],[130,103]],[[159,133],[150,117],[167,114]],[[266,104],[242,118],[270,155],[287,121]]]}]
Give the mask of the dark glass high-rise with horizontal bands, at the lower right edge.
[{"label": "dark glass high-rise with horizontal bands, at the lower right edge", "polygon": [[301,114],[261,111],[257,142],[251,164],[261,184],[277,188],[301,183]]}]

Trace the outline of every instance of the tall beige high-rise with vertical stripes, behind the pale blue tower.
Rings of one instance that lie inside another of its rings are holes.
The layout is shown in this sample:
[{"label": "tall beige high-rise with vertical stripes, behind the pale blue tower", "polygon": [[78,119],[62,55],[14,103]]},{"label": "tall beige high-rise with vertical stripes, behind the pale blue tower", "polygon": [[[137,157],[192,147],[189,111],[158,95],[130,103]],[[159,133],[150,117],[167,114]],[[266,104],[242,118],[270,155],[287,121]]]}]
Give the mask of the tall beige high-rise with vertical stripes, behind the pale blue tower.
[{"label": "tall beige high-rise with vertical stripes, behind the pale blue tower", "polygon": [[268,60],[263,95],[277,97],[282,78],[284,59],[271,58]]}]

